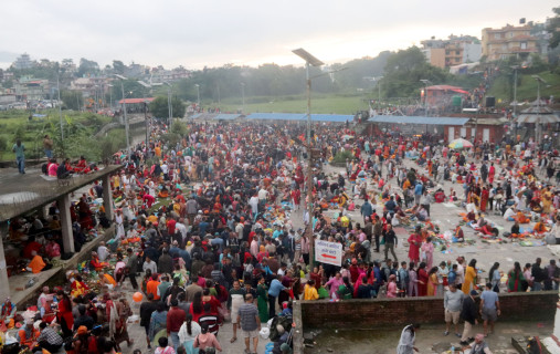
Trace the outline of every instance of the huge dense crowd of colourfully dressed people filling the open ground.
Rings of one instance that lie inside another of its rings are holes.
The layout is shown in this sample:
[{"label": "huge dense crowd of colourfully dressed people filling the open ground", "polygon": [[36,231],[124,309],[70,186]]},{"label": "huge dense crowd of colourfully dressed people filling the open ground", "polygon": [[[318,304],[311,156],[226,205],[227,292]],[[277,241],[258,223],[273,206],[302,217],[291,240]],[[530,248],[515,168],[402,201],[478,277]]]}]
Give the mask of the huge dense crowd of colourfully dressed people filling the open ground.
[{"label": "huge dense crowd of colourfully dressed people filling the open ground", "polygon": [[[503,237],[556,243],[557,152],[508,140],[452,150],[427,145],[422,137],[358,137],[352,129],[349,123],[314,125],[319,155],[308,177],[309,150],[298,124],[191,123],[188,133],[171,143],[163,139],[167,126],[154,123],[148,145],[115,156],[124,168],[112,178],[114,220],[103,217],[103,206],[95,206],[103,195],[98,184],[73,205],[77,250],[110,222],[114,238],[68,273],[65,287],[44,289],[38,301],[38,319],[44,324],[35,331],[29,322],[19,331],[20,344],[64,345],[76,354],[92,347],[110,353],[124,342],[134,345],[127,321],[133,313],[126,290],[131,289],[134,301],[141,302],[146,345],[156,353],[222,351],[237,335],[245,353],[256,353],[260,331],[271,320],[271,352],[289,353],[293,300],[397,296],[442,296],[445,334],[453,324],[462,344],[468,345],[474,340],[468,299],[482,296],[488,335],[499,315],[498,298],[488,292],[558,289],[554,260],[546,267],[540,259],[525,268],[516,262],[504,271],[496,263],[485,279],[474,258],[434,261],[442,240],[466,242],[464,228],[483,239],[496,238],[496,226],[485,219],[490,210],[515,220]],[[324,167],[344,150],[351,152],[351,158],[327,171]],[[85,160],[82,165],[67,169],[86,173],[75,170],[88,166]],[[307,190],[307,178],[313,190]],[[447,190],[445,181],[454,187]],[[446,239],[431,219],[434,202],[465,208]],[[44,219],[10,225],[13,239],[31,235],[21,241],[31,271],[52,267],[51,260],[61,257],[57,222],[53,205]],[[528,222],[536,223],[519,228]],[[404,238],[395,233],[402,227],[410,228]],[[342,263],[315,262],[311,268],[316,239],[340,243]],[[399,260],[395,249],[405,246],[408,259]],[[57,304],[55,314],[52,303]],[[9,324],[15,308],[4,305],[2,317]],[[459,314],[466,321],[462,334]],[[61,335],[45,320],[53,315]],[[219,336],[222,325],[232,325],[231,339]],[[406,331],[410,336],[414,327]],[[73,340],[63,341],[68,337]]]}]

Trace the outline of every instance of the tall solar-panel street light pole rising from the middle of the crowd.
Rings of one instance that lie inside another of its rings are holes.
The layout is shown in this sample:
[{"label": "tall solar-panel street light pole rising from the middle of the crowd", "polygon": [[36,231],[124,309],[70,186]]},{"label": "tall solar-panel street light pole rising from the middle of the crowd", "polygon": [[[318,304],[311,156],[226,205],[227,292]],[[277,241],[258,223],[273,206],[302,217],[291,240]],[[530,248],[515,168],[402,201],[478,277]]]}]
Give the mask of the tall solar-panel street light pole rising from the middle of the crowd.
[{"label": "tall solar-panel street light pole rising from the middle of the crowd", "polygon": [[308,237],[308,244],[309,244],[309,268],[313,271],[314,263],[315,263],[315,254],[314,254],[314,248],[315,248],[315,240],[313,239],[313,227],[311,227],[311,214],[313,214],[313,148],[311,148],[311,77],[309,76],[309,65],[313,66],[321,66],[325,63],[318,60],[317,58],[313,56],[310,53],[308,53],[304,49],[296,49],[292,51],[297,56],[305,60],[305,76],[307,81],[307,158],[308,158],[308,166],[307,166],[307,205],[306,205],[306,211],[308,212],[309,222],[306,226],[306,233]]}]

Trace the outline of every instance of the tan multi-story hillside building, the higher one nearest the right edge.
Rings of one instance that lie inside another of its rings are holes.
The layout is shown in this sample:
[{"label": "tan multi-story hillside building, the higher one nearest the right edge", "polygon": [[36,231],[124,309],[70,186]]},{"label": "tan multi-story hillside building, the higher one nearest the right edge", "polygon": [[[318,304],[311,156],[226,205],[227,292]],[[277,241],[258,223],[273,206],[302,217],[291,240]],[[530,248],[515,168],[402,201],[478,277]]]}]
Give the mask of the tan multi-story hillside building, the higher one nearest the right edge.
[{"label": "tan multi-story hillside building, the higher one nearest the right edge", "polygon": [[483,55],[488,61],[538,52],[537,38],[531,35],[530,25],[507,24],[500,29],[483,29]]}]

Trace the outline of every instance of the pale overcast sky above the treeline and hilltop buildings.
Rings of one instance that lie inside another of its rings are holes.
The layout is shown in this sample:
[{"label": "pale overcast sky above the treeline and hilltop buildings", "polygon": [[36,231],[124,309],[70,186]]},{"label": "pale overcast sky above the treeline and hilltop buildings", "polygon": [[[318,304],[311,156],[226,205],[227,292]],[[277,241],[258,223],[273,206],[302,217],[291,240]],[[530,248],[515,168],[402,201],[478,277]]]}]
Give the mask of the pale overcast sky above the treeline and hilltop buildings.
[{"label": "pale overcast sky above the treeline and hilltop buildings", "polygon": [[558,0],[17,0],[0,4],[0,67],[21,53],[114,59],[171,69],[300,64],[305,48],[332,63],[405,49],[432,35],[543,22]]}]

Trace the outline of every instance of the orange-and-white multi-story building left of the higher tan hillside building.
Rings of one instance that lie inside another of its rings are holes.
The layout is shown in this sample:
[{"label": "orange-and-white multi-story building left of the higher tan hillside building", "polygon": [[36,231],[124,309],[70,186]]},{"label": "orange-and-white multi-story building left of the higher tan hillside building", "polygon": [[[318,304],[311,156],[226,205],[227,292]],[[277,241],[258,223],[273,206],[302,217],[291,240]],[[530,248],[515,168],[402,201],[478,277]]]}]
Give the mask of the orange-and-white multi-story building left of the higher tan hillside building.
[{"label": "orange-and-white multi-story building left of the higher tan hillside building", "polygon": [[474,63],[480,59],[480,43],[471,35],[450,35],[447,40],[434,38],[422,41],[422,52],[426,61],[439,67],[450,67]]}]

